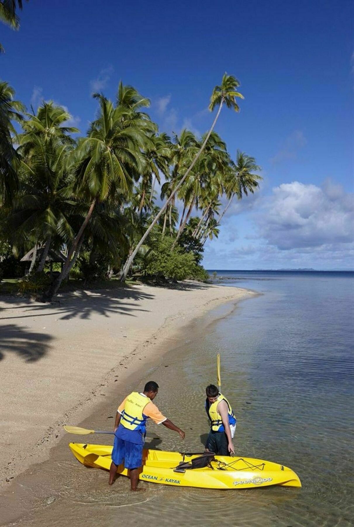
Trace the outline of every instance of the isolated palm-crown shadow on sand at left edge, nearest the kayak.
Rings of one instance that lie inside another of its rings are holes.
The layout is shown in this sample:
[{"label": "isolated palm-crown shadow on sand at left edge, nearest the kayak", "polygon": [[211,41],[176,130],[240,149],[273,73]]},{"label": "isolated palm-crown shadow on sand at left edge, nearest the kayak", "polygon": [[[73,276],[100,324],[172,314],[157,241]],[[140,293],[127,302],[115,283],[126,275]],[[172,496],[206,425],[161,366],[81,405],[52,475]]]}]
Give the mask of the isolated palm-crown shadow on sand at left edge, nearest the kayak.
[{"label": "isolated palm-crown shadow on sand at left edge, nearest the kayak", "polygon": [[50,335],[36,333],[17,324],[1,326],[0,360],[5,353],[17,353],[26,362],[36,362],[43,358],[50,348]]}]

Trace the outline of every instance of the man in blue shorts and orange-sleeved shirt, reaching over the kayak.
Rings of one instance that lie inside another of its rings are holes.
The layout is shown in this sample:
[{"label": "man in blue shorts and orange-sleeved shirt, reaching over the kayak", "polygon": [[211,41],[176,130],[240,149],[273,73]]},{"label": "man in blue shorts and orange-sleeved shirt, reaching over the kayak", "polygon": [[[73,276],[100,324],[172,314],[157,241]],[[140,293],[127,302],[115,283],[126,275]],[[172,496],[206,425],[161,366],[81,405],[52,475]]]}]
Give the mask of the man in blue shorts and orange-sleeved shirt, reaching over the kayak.
[{"label": "man in blue shorts and orange-sleeved shirt, reaching over the kayak", "polygon": [[132,392],[118,406],[114,425],[114,446],[112,463],[109,470],[109,485],[112,485],[117,467],[124,460],[124,466],[130,470],[130,490],[138,491],[139,469],[143,465],[143,446],[146,433],[146,421],[150,417],[159,425],[178,432],[185,438],[183,430],[161,414],[152,402],[158,392],[158,384],[153,380],[146,383],[144,392]]}]

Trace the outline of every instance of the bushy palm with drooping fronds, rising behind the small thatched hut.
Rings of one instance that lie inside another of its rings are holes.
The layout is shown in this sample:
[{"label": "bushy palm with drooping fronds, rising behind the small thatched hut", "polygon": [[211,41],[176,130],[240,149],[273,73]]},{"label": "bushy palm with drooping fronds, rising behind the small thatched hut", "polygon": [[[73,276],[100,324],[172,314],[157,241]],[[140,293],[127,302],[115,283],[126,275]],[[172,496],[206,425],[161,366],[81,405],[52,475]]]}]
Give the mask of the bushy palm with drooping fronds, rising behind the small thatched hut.
[{"label": "bushy palm with drooping fronds, rising behind the small thatched hut", "polygon": [[[73,237],[68,217],[75,206],[67,189],[70,178],[68,157],[72,145],[65,132],[71,129],[59,126],[65,123],[63,119],[55,125],[54,116],[63,113],[60,106],[45,106],[38,108],[37,115],[30,115],[31,119],[23,121],[24,133],[18,135],[21,185],[13,200],[13,213],[8,218],[14,241],[34,239],[34,252],[44,243],[39,272],[44,268],[52,239],[61,245]],[[51,115],[53,119],[50,119]],[[66,119],[69,119],[67,113]],[[50,128],[56,132],[48,134],[42,126],[49,122]]]}]

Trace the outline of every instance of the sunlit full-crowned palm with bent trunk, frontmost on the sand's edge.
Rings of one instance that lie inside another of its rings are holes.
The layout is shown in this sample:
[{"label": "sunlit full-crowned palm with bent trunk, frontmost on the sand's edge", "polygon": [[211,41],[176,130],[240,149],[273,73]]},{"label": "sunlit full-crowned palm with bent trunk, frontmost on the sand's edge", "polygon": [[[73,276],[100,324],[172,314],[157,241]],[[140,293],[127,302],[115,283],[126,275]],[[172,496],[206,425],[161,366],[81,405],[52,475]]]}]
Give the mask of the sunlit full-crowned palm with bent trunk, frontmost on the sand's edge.
[{"label": "sunlit full-crowned palm with bent trunk, frontmost on the sand's edge", "polygon": [[[74,193],[86,196],[90,205],[68,250],[62,272],[44,294],[45,300],[50,300],[56,294],[68,275],[70,260],[77,251],[96,203],[114,202],[117,198],[120,201],[122,194],[124,196],[132,192],[134,178],[138,179],[143,169],[141,149],[150,145],[147,133],[153,132],[155,125],[135,111],[138,105],[135,99],[132,103],[134,109],[129,107],[127,91],[120,83],[116,106],[103,95],[94,94],[99,102],[98,119],[90,126],[88,137],[80,139],[74,151],[77,164]],[[130,95],[132,93],[134,96],[137,94],[133,89]]]}]

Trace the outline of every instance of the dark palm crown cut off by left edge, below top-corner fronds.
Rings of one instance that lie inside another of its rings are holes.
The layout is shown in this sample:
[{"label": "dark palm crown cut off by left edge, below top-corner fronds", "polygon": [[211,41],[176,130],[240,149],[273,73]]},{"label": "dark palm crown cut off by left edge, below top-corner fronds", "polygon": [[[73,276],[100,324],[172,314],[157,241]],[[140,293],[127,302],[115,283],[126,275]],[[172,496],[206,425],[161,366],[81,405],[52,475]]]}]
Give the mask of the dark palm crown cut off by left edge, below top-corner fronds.
[{"label": "dark palm crown cut off by left edge, below top-corner fronds", "polygon": [[0,204],[11,200],[18,188],[19,158],[12,144],[11,134],[16,135],[12,121],[22,122],[25,108],[14,95],[7,82],[0,82]]}]

